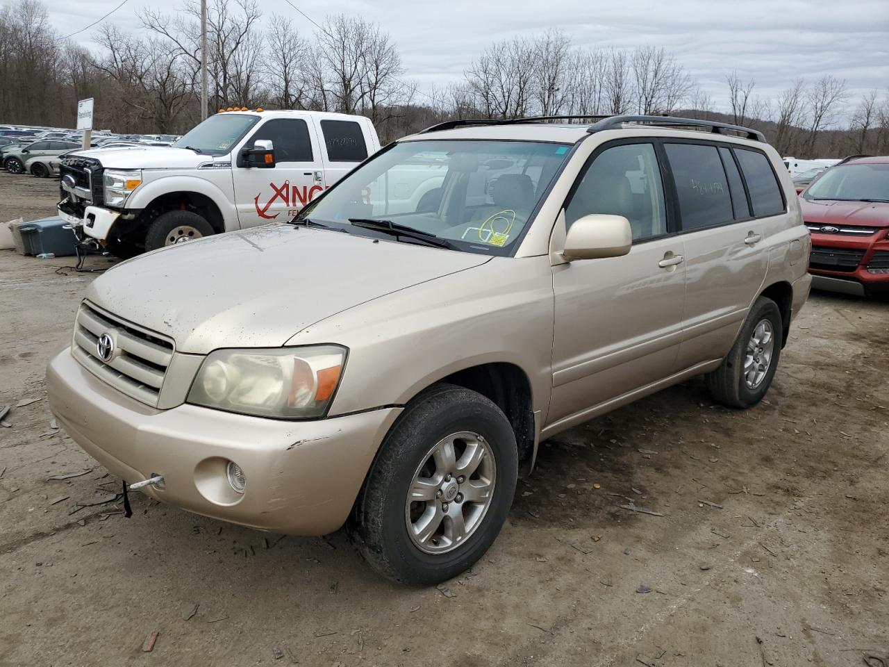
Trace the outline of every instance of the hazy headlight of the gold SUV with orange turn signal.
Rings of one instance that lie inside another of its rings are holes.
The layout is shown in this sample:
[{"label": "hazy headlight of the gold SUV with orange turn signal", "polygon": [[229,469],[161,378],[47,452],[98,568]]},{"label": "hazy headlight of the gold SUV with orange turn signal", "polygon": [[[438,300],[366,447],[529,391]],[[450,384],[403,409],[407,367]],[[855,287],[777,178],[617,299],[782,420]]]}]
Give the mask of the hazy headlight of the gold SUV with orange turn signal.
[{"label": "hazy headlight of the gold SUV with orange turn signal", "polygon": [[338,345],[216,350],[197,372],[188,403],[260,417],[320,417],[340,384],[346,351]]}]

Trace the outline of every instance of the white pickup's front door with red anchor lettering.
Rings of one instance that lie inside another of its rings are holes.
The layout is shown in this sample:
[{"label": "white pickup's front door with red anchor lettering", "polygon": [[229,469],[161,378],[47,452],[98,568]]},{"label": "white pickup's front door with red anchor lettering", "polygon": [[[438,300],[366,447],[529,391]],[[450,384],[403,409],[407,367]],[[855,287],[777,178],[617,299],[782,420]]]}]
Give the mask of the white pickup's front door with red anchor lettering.
[{"label": "white pickup's front door with red anchor lettering", "polygon": [[288,221],[324,190],[324,169],[315,128],[302,118],[272,118],[244,143],[268,140],[275,168],[247,167],[237,152],[233,169],[237,217],[242,228]]}]

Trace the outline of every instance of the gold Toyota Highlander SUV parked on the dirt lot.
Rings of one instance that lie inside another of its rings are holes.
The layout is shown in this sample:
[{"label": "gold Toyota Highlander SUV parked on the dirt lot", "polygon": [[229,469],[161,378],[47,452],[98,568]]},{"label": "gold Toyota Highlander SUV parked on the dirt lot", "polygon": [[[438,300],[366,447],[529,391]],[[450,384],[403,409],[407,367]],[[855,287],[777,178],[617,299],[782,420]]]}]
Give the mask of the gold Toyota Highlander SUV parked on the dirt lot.
[{"label": "gold Toyota Highlander SUV parked on the dirt lot", "polygon": [[383,575],[436,583],[541,440],[694,375],[757,404],[811,280],[781,157],[733,125],[556,120],[436,125],[290,223],[118,265],[49,365],[52,412],[124,487],[345,524]]}]

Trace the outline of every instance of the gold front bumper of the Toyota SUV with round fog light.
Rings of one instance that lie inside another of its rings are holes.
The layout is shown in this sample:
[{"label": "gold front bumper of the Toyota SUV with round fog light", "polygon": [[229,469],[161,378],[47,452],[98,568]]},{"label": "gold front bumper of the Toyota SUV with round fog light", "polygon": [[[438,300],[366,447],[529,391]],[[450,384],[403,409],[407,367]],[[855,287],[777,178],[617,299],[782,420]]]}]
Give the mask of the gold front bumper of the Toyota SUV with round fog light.
[{"label": "gold front bumper of the Toyota SUV with round fog light", "polygon": [[[155,474],[161,502],[242,526],[317,535],[348,518],[380,442],[400,408],[311,422],[181,405],[157,410],[86,371],[69,349],[46,371],[50,408],[68,435],[127,483]],[[225,462],[244,470],[233,494]]]}]

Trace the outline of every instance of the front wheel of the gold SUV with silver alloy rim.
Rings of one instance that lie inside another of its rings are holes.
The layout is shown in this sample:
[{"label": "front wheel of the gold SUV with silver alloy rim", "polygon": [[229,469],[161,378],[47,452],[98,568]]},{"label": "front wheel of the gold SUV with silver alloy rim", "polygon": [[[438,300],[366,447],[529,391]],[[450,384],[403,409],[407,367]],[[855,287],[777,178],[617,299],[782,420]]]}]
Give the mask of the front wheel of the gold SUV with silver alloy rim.
[{"label": "front wheel of the gold SUV with silver alloy rim", "polygon": [[459,575],[491,546],[516,491],[516,436],[488,398],[440,384],[412,400],[380,447],[348,531],[400,583]]}]

